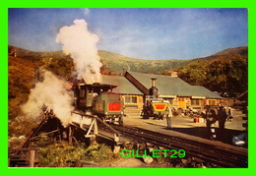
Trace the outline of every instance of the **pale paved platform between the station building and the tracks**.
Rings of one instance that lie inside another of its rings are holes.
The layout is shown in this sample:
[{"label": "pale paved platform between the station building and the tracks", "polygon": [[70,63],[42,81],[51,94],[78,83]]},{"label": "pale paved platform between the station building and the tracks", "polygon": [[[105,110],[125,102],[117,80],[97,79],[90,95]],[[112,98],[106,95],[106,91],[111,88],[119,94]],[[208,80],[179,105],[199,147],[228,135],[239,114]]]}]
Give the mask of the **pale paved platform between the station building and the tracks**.
[{"label": "pale paved platform between the station building and the tracks", "polygon": [[[124,118],[124,125],[127,127],[137,127],[140,129],[158,132],[170,137],[178,137],[195,142],[204,143],[228,150],[241,153],[248,153],[247,147],[236,147],[232,144],[232,137],[243,133],[242,116],[236,115],[232,122],[226,122],[225,125],[225,140],[220,139],[219,125],[217,122],[217,134],[219,135],[216,141],[208,139],[206,124],[195,123],[193,118],[174,117],[171,119],[171,129],[166,128],[166,120],[143,119],[141,116],[133,116]],[[222,134],[221,134],[222,135]]]}]

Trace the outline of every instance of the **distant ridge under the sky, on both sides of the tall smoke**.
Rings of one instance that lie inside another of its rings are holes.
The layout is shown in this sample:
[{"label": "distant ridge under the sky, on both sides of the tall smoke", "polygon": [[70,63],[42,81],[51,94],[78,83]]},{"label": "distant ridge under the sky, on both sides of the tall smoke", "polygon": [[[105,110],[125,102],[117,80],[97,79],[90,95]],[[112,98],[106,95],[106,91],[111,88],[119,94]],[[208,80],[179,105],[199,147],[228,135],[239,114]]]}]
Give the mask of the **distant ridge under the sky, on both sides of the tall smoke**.
[{"label": "distant ridge under the sky, on both sides of the tall smoke", "polygon": [[[19,58],[25,58],[38,65],[45,65],[54,59],[70,59],[62,51],[33,52],[22,48],[9,46],[16,51]],[[143,60],[125,57],[104,50],[98,50],[100,61],[103,64],[103,74],[121,75],[124,71],[160,74],[164,70],[172,70],[192,60]]]}]

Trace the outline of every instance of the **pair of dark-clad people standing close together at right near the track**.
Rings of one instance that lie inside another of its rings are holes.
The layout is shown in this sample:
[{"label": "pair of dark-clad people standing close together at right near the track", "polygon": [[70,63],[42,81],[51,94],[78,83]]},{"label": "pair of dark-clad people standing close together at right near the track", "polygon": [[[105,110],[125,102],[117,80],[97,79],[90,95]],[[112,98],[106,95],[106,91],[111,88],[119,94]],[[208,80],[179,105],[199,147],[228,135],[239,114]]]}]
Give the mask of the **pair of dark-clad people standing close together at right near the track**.
[{"label": "pair of dark-clad people standing close together at right near the track", "polygon": [[225,141],[225,133],[224,133],[224,124],[227,119],[232,119],[232,111],[230,108],[224,108],[224,106],[220,106],[219,108],[210,108],[209,105],[206,106],[206,126],[209,138],[211,140],[216,140],[216,122],[219,121],[219,129],[220,129],[220,140]]}]

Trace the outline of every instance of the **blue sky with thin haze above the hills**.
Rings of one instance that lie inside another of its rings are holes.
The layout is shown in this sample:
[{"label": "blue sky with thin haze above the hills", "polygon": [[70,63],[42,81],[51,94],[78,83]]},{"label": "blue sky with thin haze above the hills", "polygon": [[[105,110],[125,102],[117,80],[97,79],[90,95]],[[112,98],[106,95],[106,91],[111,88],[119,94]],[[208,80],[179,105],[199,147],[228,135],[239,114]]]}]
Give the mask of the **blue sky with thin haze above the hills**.
[{"label": "blue sky with thin haze above the hills", "polygon": [[85,19],[97,48],[138,59],[192,59],[248,45],[247,9],[9,9],[9,44],[61,50],[59,29]]}]

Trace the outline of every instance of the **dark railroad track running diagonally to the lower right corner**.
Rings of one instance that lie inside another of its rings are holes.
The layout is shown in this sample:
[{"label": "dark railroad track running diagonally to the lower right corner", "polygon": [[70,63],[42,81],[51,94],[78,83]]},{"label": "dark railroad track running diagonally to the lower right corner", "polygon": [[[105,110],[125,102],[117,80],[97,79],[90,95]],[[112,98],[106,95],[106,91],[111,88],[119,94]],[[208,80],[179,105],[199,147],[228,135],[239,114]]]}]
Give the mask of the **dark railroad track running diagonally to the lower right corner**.
[{"label": "dark railroad track running diagonally to the lower right corner", "polygon": [[133,139],[148,142],[159,147],[184,149],[188,154],[192,156],[211,161],[225,168],[248,167],[247,152],[220,148],[213,145],[164,135],[141,128],[120,127],[117,125],[112,125],[112,127],[123,135],[129,136]]}]

